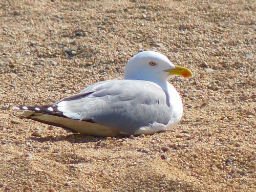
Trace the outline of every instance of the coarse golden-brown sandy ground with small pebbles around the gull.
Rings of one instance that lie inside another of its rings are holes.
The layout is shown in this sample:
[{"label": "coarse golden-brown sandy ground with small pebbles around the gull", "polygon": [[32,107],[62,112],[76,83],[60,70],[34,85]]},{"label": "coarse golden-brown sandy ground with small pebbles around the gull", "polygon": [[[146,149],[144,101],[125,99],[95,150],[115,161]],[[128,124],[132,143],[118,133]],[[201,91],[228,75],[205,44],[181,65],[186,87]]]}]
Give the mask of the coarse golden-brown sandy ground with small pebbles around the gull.
[{"label": "coarse golden-brown sandy ground with small pebbles around the gull", "polygon": [[[253,0],[0,1],[0,191],[255,191]],[[26,119],[157,50],[191,79],[175,129],[97,138]]]}]

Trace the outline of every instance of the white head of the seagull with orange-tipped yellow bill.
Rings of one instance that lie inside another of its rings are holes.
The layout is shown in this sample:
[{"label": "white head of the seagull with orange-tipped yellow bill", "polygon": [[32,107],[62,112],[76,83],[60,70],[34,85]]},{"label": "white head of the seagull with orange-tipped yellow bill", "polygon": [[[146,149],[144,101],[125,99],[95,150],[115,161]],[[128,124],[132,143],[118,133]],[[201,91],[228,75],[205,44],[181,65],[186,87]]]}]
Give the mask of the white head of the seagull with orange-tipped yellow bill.
[{"label": "white head of the seagull with orange-tipped yellow bill", "polygon": [[191,77],[189,69],[173,65],[163,54],[142,51],[133,56],[124,68],[124,79],[167,81],[174,76]]}]

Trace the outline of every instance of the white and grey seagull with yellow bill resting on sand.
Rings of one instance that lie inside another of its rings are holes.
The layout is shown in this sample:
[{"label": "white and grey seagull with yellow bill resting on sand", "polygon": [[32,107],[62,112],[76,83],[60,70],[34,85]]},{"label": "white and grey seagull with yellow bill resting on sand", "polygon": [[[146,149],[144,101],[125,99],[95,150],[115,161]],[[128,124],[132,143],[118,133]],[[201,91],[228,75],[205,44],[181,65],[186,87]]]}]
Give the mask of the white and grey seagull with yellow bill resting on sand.
[{"label": "white and grey seagull with yellow bill resting on sand", "polygon": [[15,106],[22,118],[71,129],[90,136],[152,135],[172,129],[183,106],[167,80],[191,77],[163,54],[142,51],[124,68],[123,79],[92,84],[80,93],[46,106]]}]

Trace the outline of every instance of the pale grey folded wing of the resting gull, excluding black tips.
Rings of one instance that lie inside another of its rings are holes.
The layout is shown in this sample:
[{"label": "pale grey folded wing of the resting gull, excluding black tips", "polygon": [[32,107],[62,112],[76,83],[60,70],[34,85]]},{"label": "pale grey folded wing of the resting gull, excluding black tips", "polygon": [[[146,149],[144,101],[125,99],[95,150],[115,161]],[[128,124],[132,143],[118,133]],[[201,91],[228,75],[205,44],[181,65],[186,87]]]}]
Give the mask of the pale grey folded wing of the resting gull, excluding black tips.
[{"label": "pale grey folded wing of the resting gull, excluding black tips", "polygon": [[164,91],[148,81],[109,80],[56,103],[63,115],[131,133],[154,122],[167,124],[170,108]]}]

